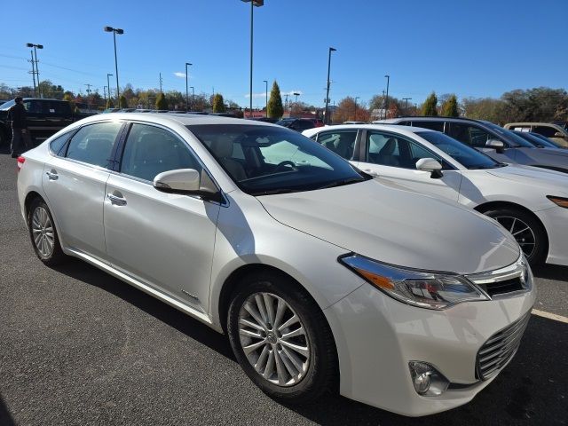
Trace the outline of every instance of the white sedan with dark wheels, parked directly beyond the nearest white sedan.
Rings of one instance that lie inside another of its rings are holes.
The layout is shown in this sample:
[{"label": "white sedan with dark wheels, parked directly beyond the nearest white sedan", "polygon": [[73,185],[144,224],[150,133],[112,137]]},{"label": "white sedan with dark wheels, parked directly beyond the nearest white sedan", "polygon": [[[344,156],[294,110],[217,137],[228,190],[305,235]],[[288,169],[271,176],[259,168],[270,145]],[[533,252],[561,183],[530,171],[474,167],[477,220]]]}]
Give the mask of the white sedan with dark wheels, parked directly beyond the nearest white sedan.
[{"label": "white sedan with dark wheels, parked directly beyond the nearest white sedan", "polygon": [[568,176],[496,162],[437,131],[384,125],[304,131],[365,172],[493,217],[531,264],[568,265]]}]

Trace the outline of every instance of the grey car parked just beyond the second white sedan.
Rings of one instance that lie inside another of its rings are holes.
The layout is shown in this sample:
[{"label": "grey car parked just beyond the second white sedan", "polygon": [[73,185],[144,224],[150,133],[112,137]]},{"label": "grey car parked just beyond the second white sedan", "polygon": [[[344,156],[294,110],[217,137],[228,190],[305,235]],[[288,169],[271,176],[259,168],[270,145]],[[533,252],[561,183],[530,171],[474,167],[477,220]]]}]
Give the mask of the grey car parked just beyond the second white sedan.
[{"label": "grey car parked just beyond the second white sedan", "polygon": [[449,117],[401,117],[374,123],[443,131],[450,138],[473,146],[498,162],[514,162],[568,173],[568,151],[536,148],[524,138],[493,122]]}]

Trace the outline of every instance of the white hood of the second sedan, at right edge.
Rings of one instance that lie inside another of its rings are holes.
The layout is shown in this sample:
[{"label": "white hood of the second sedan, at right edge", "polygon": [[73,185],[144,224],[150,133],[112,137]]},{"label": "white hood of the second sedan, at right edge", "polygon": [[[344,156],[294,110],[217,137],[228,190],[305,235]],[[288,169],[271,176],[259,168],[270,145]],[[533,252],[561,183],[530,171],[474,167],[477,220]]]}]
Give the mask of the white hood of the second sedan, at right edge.
[{"label": "white hood of the second sedan, at right edge", "polygon": [[556,195],[568,193],[568,175],[561,171],[510,164],[507,167],[487,170],[487,173],[524,185],[552,186]]}]

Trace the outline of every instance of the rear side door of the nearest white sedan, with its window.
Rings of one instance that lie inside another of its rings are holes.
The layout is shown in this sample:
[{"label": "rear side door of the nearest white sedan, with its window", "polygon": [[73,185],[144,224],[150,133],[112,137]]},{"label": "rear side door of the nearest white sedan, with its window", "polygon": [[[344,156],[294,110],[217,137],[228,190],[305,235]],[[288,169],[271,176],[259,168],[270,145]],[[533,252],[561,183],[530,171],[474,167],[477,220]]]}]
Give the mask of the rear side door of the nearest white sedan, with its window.
[{"label": "rear side door of the nearest white sedan, with its window", "polygon": [[105,259],[103,202],[122,122],[83,126],[43,170],[43,190],[68,248]]}]

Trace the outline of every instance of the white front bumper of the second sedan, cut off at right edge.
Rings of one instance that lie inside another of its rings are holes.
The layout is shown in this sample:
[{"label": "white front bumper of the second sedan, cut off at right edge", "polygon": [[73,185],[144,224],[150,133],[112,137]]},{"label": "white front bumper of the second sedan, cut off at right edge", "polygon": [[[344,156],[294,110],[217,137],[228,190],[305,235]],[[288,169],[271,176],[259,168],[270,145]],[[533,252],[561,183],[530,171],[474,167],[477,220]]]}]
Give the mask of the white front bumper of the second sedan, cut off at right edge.
[{"label": "white front bumper of the second sedan, cut off at right edge", "polygon": [[547,230],[548,257],[547,264],[568,266],[568,209],[552,207],[535,211]]}]

